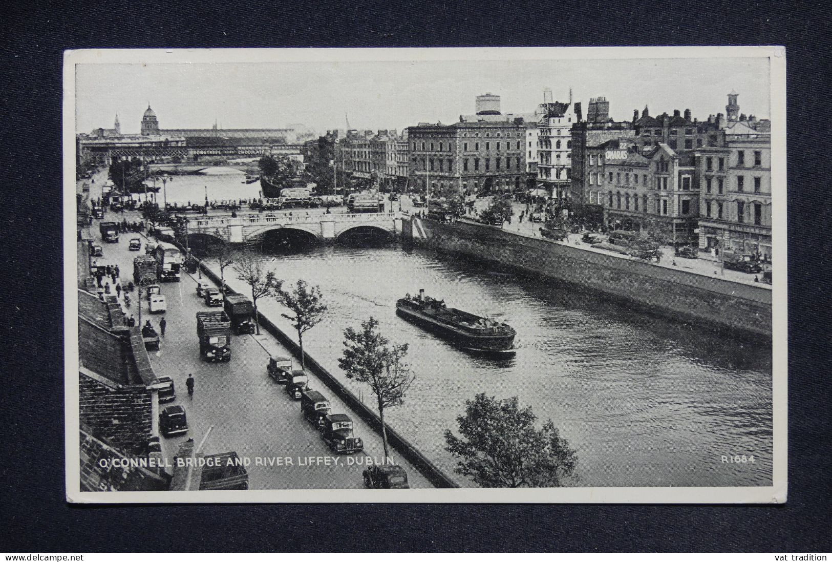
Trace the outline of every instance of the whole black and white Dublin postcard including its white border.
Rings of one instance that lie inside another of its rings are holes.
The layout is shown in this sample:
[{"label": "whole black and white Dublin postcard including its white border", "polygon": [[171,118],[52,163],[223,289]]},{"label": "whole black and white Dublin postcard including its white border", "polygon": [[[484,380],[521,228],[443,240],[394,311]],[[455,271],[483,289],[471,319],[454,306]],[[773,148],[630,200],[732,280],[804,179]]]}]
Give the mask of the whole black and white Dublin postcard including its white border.
[{"label": "whole black and white Dublin postcard including its white border", "polygon": [[782,47],[64,58],[67,501],[783,503]]}]

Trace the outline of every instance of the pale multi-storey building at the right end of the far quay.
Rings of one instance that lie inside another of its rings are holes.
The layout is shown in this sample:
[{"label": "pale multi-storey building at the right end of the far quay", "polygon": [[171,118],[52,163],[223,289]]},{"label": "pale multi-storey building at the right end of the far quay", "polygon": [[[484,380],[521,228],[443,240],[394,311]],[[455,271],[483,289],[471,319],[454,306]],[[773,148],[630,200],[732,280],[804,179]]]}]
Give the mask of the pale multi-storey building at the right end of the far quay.
[{"label": "pale multi-storey building at the right end of the far quay", "polygon": [[771,138],[759,123],[729,123],[725,146],[701,151],[699,247],[714,256],[727,249],[771,259]]}]

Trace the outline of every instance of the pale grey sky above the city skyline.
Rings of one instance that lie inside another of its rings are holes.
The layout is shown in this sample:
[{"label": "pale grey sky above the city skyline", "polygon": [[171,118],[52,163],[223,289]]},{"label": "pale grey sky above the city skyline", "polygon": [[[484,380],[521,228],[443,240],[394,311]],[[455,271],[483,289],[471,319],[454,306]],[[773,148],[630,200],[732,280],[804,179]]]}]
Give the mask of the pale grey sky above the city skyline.
[{"label": "pale grey sky above the city skyline", "polygon": [[610,117],[630,120],[646,106],[655,116],[691,109],[704,120],[724,113],[727,94],[740,112],[770,117],[770,69],[764,57],[463,60],[400,62],[255,62],[77,64],[76,132],[112,127],[140,131],[148,103],[159,127],[281,128],[303,123],[322,133],[452,123],[474,112],[474,98],[501,97],[503,113],[533,112],[543,89],[555,101],[607,97]]}]

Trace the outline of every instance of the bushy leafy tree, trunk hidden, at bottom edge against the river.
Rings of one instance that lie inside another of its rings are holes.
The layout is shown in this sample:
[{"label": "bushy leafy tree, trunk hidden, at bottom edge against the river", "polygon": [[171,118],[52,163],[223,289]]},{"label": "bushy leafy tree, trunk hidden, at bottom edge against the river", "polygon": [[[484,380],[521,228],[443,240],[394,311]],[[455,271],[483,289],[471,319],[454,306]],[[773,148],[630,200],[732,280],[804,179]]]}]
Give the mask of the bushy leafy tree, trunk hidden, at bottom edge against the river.
[{"label": "bushy leafy tree, trunk hidden, at bottom edge against the river", "polygon": [[458,474],[486,488],[548,488],[577,480],[577,451],[552,420],[537,430],[532,407],[519,409],[517,396],[497,400],[480,393],[465,405],[457,418],[462,438],[445,430],[446,450],[460,459]]}]

